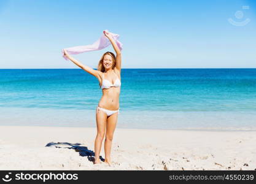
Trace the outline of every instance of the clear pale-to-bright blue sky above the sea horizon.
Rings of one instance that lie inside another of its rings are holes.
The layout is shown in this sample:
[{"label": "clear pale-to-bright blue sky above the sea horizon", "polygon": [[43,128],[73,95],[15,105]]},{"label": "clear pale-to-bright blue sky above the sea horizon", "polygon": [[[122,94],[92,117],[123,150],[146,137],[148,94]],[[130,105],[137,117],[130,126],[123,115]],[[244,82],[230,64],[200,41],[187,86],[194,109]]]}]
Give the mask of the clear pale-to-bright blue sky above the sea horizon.
[{"label": "clear pale-to-bright blue sky above the sea horizon", "polygon": [[[255,20],[246,0],[1,0],[0,68],[77,68],[61,49],[93,44],[104,29],[120,34],[123,68],[256,67]],[[74,57],[96,68],[107,50]]]}]

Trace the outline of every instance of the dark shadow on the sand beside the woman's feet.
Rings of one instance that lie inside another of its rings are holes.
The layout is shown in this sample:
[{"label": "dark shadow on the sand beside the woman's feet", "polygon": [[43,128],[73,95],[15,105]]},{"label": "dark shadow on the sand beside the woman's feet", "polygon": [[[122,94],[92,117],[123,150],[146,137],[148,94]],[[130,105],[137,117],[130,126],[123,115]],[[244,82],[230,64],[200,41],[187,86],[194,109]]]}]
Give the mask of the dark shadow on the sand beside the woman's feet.
[{"label": "dark shadow on the sand beside the woman's feet", "polygon": [[[95,161],[95,153],[92,150],[88,150],[87,147],[80,146],[81,144],[75,143],[71,144],[68,142],[49,142],[45,147],[55,147],[55,148],[68,148],[68,149],[74,149],[75,151],[79,152],[80,156],[87,156],[88,160],[91,162]],[[105,161],[102,156],[99,156],[99,159],[101,161]]]}]

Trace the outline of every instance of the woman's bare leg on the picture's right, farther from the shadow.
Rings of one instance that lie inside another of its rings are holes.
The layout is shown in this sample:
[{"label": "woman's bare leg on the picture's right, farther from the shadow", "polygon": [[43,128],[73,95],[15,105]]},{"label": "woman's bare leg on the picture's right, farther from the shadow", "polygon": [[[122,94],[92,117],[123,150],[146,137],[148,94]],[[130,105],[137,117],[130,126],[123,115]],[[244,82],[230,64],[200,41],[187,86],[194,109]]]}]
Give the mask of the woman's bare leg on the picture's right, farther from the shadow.
[{"label": "woman's bare leg on the picture's right, farther from the shadow", "polygon": [[112,114],[107,118],[107,131],[106,131],[106,139],[105,139],[105,162],[109,165],[111,164],[111,146],[112,140],[114,136],[115,127],[117,125],[117,117],[118,112]]}]

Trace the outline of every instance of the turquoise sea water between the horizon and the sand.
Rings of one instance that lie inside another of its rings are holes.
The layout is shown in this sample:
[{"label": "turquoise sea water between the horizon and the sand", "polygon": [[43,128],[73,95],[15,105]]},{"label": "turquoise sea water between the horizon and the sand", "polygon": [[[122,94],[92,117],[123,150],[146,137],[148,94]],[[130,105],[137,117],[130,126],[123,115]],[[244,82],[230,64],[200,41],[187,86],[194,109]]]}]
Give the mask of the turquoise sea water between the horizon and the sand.
[{"label": "turquoise sea water between the horizon and the sand", "polygon": [[[1,69],[0,125],[95,126],[81,69]],[[256,69],[122,69],[120,128],[255,129]]]}]

